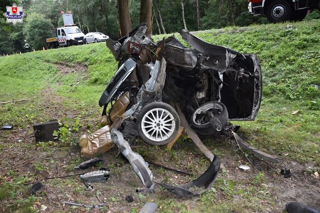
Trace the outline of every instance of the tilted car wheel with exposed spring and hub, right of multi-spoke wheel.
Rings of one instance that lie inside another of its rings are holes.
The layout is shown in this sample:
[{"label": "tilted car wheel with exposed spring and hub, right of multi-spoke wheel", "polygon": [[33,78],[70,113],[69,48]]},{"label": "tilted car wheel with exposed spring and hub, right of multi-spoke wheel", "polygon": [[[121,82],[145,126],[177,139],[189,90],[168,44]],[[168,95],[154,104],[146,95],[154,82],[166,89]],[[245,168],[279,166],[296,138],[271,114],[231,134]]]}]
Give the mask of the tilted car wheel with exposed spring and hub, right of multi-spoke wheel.
[{"label": "tilted car wheel with exposed spring and hub, right of multi-spoke wheel", "polygon": [[217,101],[207,102],[197,108],[191,116],[191,127],[202,135],[220,132],[228,122],[226,106]]}]

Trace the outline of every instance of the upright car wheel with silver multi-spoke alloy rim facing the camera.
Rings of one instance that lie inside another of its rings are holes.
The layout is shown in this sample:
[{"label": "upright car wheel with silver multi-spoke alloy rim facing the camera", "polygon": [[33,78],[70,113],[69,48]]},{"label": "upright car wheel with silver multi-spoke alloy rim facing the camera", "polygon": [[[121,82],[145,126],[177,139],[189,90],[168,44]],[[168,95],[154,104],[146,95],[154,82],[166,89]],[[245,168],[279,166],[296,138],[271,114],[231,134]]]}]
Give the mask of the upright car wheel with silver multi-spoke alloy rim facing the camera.
[{"label": "upright car wheel with silver multi-spoke alloy rim facing the camera", "polygon": [[180,119],[176,110],[163,102],[144,106],[138,118],[139,136],[150,145],[161,146],[172,141],[178,134]]}]

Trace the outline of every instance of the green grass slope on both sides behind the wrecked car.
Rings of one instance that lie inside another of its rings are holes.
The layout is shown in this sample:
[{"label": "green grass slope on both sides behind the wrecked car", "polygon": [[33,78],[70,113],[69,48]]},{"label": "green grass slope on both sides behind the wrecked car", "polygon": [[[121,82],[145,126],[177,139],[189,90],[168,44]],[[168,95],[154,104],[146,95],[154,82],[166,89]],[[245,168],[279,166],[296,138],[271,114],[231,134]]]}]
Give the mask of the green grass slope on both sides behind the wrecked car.
[{"label": "green grass slope on both sides behind the wrecked car", "polygon": [[[199,32],[207,42],[258,55],[263,99],[255,122],[239,122],[250,143],[275,155],[320,162],[320,23],[303,21]],[[61,73],[59,65],[88,67]],[[50,89],[67,109],[99,110],[100,94],[117,67],[104,43],[0,57],[0,101],[40,98]],[[44,97],[42,97],[42,101]],[[0,105],[2,124],[22,125],[31,107]],[[299,110],[297,115],[291,115]],[[16,123],[15,123],[16,121]],[[31,121],[30,121],[31,122]]]}]

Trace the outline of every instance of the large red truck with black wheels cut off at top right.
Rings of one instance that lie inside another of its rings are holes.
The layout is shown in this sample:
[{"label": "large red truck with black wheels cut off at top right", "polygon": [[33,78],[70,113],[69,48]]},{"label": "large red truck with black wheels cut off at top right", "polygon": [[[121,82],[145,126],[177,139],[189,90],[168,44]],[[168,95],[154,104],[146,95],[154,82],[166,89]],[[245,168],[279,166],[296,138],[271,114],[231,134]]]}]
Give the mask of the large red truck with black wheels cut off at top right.
[{"label": "large red truck with black wheels cut off at top right", "polygon": [[266,15],[270,22],[302,20],[309,9],[319,9],[320,0],[248,0],[249,13]]}]

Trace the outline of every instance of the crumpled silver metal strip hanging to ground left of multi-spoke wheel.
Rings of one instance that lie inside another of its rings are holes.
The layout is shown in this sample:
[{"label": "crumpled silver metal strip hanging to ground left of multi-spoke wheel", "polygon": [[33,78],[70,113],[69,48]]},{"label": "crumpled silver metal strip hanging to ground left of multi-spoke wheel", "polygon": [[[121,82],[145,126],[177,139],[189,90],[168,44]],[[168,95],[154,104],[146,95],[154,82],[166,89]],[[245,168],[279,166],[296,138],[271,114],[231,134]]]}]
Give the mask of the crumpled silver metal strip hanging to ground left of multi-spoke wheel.
[{"label": "crumpled silver metal strip hanging to ground left of multi-spoke wheel", "polygon": [[147,188],[153,188],[155,185],[155,182],[153,181],[153,174],[148,168],[148,165],[144,161],[143,157],[131,150],[129,143],[123,139],[122,133],[117,129],[111,130],[111,139],[123,156],[129,160],[132,169],[138,175],[143,185],[145,185]]}]

